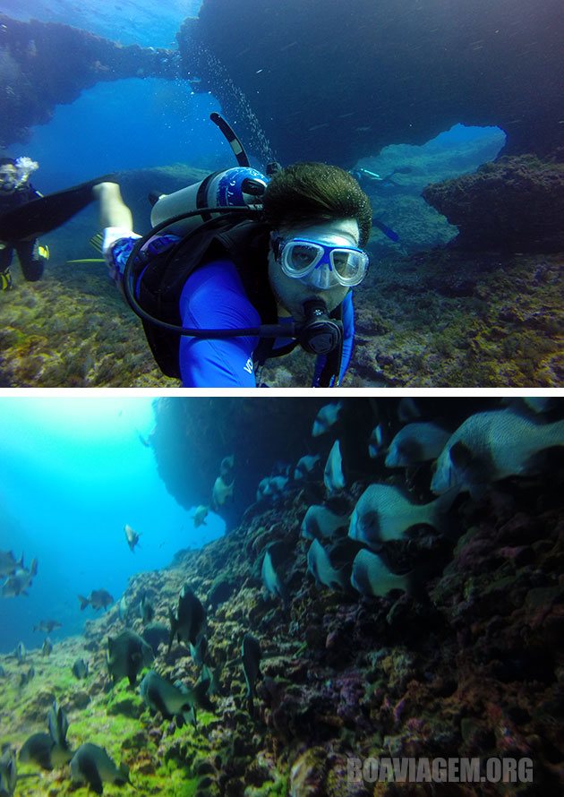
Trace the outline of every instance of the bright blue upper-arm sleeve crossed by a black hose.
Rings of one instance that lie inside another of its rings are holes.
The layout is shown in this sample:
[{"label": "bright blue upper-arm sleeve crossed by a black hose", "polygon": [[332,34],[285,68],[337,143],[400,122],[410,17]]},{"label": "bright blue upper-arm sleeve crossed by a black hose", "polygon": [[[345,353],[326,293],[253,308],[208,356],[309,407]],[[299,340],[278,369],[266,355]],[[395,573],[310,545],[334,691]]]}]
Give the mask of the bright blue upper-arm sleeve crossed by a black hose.
[{"label": "bright blue upper-arm sleeve crossed by a black hose", "polygon": [[[180,297],[184,327],[244,329],[261,317],[245,294],[231,261],[213,261],[195,270]],[[254,388],[252,353],[258,337],[180,340],[180,373],[186,388]]]}]

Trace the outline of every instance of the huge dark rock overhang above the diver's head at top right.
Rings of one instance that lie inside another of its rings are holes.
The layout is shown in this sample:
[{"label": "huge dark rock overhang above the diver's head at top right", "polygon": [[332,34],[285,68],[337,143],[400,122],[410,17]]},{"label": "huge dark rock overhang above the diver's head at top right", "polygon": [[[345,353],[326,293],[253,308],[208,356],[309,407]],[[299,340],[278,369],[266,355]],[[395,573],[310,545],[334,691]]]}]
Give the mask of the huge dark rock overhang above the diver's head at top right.
[{"label": "huge dark rock overhang above the diver's head at top right", "polygon": [[231,81],[278,159],[351,167],[457,122],[498,125],[505,154],[561,153],[563,37],[560,0],[204,0],[179,47],[244,141],[256,131]]}]

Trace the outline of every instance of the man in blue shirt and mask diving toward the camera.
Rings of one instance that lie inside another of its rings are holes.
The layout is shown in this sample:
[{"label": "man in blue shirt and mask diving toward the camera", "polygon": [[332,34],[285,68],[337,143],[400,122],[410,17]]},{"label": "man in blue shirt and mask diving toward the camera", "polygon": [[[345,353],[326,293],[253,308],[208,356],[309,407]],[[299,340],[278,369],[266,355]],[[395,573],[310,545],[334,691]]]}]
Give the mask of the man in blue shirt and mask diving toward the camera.
[{"label": "man in blue shirt and mask diving toward the camera", "polygon": [[110,276],[143,321],[163,373],[184,387],[256,387],[257,365],[300,344],[317,356],[312,385],[338,386],[354,339],[351,288],[369,265],[370,201],[322,163],[239,167],[153,195],[146,236],[132,233],[119,186],[94,187]]}]

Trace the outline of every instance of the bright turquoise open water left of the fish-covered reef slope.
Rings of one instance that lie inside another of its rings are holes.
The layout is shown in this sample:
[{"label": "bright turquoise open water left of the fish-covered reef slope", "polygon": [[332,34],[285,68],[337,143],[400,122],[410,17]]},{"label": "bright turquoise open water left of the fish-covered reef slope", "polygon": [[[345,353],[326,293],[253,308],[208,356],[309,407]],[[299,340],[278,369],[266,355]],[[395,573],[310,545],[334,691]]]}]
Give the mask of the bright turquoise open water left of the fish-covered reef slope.
[{"label": "bright turquoise open water left of the fish-covered reef slope", "polygon": [[[63,623],[56,639],[89,617],[77,595],[107,589],[116,600],[133,574],[166,567],[174,554],[225,531],[213,513],[193,526],[167,493],[153,451],[151,398],[2,398],[0,550],[38,575],[29,596],[0,597],[0,652],[40,647],[40,620]],[[132,553],[124,524],[141,534]]]}]

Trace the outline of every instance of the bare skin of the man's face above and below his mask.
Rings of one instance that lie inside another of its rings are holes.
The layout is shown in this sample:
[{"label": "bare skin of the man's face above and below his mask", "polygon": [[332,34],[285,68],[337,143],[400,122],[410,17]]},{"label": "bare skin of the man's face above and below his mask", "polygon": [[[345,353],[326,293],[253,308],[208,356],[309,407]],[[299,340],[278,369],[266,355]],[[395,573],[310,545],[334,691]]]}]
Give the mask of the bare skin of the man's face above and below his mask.
[{"label": "bare skin of the man's face above and below his mask", "polygon": [[[324,221],[303,227],[280,227],[276,232],[282,238],[303,236],[332,246],[358,246],[360,238],[356,219]],[[330,313],[341,304],[350,290],[345,285],[321,288],[308,284],[307,280],[286,276],[276,261],[272,249],[269,250],[269,280],[278,304],[282,305],[296,321],[304,319],[304,302],[310,299],[321,299]]]}]

